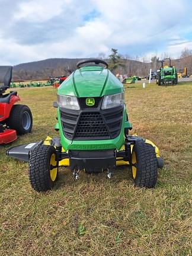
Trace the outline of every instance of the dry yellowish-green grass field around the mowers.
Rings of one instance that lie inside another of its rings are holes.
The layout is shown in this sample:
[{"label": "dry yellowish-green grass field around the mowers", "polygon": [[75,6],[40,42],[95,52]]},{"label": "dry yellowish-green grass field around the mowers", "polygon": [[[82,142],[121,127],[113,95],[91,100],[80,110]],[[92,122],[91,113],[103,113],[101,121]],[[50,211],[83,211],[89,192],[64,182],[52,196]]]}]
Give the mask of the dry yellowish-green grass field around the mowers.
[{"label": "dry yellowish-green grass field around the mowers", "polygon": [[57,136],[56,89],[18,89],[33,132],[0,147],[0,255],[191,255],[192,83],[126,85],[132,133],[151,139],[165,167],[155,189],[139,189],[130,169],[81,175],[60,168],[52,191],[36,193],[28,165],[5,156],[10,146]]}]

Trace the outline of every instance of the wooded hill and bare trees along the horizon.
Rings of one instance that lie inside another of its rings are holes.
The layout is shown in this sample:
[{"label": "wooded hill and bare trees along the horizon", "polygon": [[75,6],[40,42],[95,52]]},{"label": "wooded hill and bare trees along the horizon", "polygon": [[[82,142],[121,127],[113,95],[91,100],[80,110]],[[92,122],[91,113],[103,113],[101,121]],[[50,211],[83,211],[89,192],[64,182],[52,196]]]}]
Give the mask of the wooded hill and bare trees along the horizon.
[{"label": "wooded hill and bare trees along the horizon", "polygon": [[[146,56],[131,58],[123,56],[118,53],[117,49],[112,48],[111,54],[105,57],[104,53],[100,53],[98,58],[104,59],[108,62],[110,70],[116,75],[136,75],[148,76],[149,69],[156,71],[161,66],[162,59],[170,57],[168,53],[163,53],[161,57],[152,56],[148,60]],[[37,62],[24,63],[14,66],[13,79],[14,81],[20,80],[41,80],[49,79],[53,76],[69,75],[76,69],[76,62],[82,59],[47,59]],[[181,52],[179,59],[171,58],[172,66],[180,69],[187,67],[188,75],[192,74],[192,50],[185,48]]]}]

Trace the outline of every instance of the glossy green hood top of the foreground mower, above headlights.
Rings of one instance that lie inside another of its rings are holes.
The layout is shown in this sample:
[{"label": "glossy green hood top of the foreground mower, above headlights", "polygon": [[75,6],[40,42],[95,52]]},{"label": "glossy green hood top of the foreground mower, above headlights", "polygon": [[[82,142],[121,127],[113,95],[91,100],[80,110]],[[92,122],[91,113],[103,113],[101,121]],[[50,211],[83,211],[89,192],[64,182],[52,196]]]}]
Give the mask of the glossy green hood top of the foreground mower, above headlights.
[{"label": "glossy green hood top of the foreground mower, above headlights", "polygon": [[102,97],[120,92],[123,92],[123,84],[101,66],[77,69],[57,89],[57,94],[76,97]]}]

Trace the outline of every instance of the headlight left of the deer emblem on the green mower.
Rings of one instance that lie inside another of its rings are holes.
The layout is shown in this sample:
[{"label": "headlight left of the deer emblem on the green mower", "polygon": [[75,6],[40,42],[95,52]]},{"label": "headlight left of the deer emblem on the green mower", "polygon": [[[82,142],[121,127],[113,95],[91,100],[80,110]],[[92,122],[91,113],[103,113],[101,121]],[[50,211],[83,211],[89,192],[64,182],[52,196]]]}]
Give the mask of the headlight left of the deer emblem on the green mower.
[{"label": "headlight left of the deer emblem on the green mower", "polygon": [[61,108],[69,108],[71,110],[80,110],[78,100],[75,96],[57,94],[57,104]]}]

